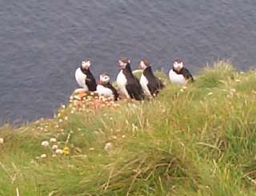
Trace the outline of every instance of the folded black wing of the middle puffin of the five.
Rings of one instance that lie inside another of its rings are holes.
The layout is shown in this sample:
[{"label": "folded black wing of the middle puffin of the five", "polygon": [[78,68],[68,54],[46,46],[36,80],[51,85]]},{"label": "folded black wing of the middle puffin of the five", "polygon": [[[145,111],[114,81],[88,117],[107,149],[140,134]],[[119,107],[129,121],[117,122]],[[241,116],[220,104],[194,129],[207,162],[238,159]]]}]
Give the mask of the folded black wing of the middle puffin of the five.
[{"label": "folded black wing of the middle puffin of the five", "polygon": [[134,76],[133,80],[130,80],[126,84],[126,90],[129,94],[130,98],[133,98],[135,100],[144,100],[142,86],[141,86],[141,84],[139,84],[139,81],[135,76]]}]

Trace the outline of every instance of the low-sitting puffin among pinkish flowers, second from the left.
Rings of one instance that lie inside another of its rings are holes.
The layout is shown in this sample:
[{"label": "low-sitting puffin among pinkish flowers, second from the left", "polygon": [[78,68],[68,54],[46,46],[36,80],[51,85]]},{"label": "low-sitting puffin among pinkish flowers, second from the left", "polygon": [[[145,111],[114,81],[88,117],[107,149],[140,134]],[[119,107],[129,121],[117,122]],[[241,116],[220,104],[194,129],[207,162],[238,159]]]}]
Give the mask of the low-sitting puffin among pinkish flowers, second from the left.
[{"label": "low-sitting puffin among pinkish flowers, second from the left", "polygon": [[118,91],[110,84],[110,76],[107,74],[103,73],[99,76],[97,92],[99,96],[112,97],[114,100],[118,100]]}]

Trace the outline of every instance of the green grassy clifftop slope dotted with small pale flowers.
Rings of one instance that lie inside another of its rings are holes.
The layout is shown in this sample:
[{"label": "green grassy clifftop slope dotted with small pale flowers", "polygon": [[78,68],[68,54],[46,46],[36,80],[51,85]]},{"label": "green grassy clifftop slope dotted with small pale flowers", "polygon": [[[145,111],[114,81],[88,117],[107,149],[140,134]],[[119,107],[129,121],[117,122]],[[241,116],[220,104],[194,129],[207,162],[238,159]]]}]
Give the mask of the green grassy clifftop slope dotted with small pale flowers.
[{"label": "green grassy clifftop slope dotted with small pale flowers", "polygon": [[220,61],[186,88],[158,74],[154,100],[1,127],[0,195],[256,195],[256,71]]}]

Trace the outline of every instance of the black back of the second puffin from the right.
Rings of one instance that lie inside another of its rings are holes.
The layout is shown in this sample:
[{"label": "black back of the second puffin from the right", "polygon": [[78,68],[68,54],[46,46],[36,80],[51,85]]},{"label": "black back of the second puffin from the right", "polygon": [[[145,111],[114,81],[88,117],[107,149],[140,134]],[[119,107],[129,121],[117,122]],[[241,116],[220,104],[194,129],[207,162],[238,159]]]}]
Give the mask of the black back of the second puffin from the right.
[{"label": "black back of the second puffin from the right", "polygon": [[154,73],[151,69],[151,67],[147,67],[143,71],[143,75],[146,76],[146,79],[148,80],[147,87],[150,90],[151,95],[153,96],[154,94],[157,95],[159,90],[164,88],[164,84],[162,84],[162,81],[159,80],[156,76],[154,76]]}]

